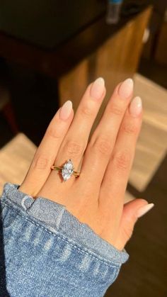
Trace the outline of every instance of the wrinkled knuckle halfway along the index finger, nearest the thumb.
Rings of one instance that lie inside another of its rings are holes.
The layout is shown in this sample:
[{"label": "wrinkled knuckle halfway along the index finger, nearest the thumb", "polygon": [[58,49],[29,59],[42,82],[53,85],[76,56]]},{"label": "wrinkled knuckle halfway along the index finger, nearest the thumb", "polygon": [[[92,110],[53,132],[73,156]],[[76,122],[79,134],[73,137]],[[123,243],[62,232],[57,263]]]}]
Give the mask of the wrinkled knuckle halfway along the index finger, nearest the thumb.
[{"label": "wrinkled knuckle halfway along the index finger, nearest the thumb", "polygon": [[120,169],[120,170],[129,169],[131,157],[128,152],[117,152],[113,159],[117,169]]}]

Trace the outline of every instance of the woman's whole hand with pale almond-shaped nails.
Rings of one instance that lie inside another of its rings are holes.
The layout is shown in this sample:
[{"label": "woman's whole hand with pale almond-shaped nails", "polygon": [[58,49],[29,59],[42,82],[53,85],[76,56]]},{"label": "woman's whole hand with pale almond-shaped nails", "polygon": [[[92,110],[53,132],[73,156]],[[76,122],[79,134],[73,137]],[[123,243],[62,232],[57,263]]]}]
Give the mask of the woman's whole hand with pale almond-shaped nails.
[{"label": "woman's whole hand with pale almond-shaped nails", "polygon": [[[52,118],[19,187],[19,191],[34,198],[42,196],[65,205],[118,250],[131,237],[137,218],[154,206],[141,198],[124,205],[142,125],[142,102],[136,97],[130,104],[132,93],[132,79],[116,86],[89,142],[105,97],[104,80],[98,78],[88,85],[75,116],[71,101],[64,103]],[[64,182],[60,172],[50,167],[61,167],[68,159],[80,176],[72,175]]]}]

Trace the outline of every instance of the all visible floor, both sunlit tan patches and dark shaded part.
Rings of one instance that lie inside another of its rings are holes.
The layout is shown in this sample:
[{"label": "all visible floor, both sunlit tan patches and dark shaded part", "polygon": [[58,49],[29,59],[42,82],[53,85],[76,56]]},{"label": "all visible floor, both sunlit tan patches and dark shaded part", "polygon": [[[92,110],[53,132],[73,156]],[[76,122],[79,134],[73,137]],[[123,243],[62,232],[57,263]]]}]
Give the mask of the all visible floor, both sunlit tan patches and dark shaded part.
[{"label": "all visible floor, both sunlit tan patches and dark shaded part", "polygon": [[[112,297],[167,296],[167,91],[139,74],[134,93],[142,97],[144,120],[137,141],[125,201],[135,197],[154,202],[125,247],[129,260],[108,289]],[[0,150],[0,192],[6,181],[21,184],[35,145],[20,133]],[[17,174],[16,174],[17,172]]]}]

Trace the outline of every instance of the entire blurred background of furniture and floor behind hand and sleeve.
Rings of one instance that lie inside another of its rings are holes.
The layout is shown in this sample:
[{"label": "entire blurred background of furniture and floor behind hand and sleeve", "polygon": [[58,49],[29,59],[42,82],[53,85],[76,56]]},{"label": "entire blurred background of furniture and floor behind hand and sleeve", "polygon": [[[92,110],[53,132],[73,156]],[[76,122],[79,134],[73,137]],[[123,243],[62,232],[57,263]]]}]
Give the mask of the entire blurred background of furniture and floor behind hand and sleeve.
[{"label": "entire blurred background of furniture and floor behind hand and sleeve", "polygon": [[57,109],[76,111],[86,86],[110,94],[132,77],[144,119],[125,202],[154,209],[137,222],[129,261],[105,296],[167,296],[167,1],[8,0],[0,3],[0,192],[21,184]]}]

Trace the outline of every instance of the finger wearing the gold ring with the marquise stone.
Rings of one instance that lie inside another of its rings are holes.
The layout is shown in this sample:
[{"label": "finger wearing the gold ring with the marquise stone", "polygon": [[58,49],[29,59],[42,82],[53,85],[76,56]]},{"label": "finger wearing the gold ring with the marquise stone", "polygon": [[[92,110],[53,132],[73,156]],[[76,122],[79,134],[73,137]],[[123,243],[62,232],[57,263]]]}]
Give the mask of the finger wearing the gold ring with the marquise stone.
[{"label": "finger wearing the gold ring with the marquise stone", "polygon": [[[81,158],[84,155],[86,149],[88,137],[91,132],[93,122],[97,116],[100,105],[105,97],[105,82],[104,79],[99,77],[95,82],[90,84],[86,89],[84,96],[81,99],[79,107],[77,108],[74,120],[68,130],[66,137],[64,138],[62,145],[59,149],[54,164],[56,166],[62,166],[64,162],[71,159],[74,164],[74,169],[77,170],[81,162]],[[59,186],[61,191],[61,183],[59,182],[59,174],[56,171],[52,171],[49,179],[47,180],[47,189],[52,191],[52,184],[54,183],[54,189]],[[62,189],[70,187],[74,183],[75,177],[62,185]],[[62,180],[62,176],[61,176]],[[50,186],[49,186],[50,184]],[[45,187],[44,187],[45,188]],[[44,189],[42,189],[44,190]],[[54,190],[53,190],[54,191]]]}]

